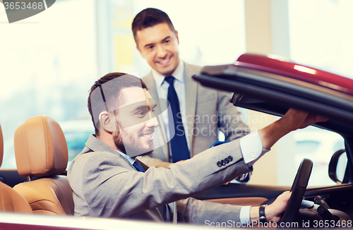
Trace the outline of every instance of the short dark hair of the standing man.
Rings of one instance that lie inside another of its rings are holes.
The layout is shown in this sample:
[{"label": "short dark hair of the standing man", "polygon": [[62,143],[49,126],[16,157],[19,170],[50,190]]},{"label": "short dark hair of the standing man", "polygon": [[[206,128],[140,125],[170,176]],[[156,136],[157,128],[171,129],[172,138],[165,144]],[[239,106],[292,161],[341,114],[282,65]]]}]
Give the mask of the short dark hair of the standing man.
[{"label": "short dark hair of the standing man", "polygon": [[136,40],[136,33],[138,30],[143,30],[145,28],[150,28],[160,23],[167,23],[169,29],[175,32],[174,25],[172,21],[169,19],[167,13],[161,11],[157,8],[145,8],[143,11],[140,11],[135,18],[133,18],[133,23],[131,25],[131,29],[133,31],[133,39]]}]

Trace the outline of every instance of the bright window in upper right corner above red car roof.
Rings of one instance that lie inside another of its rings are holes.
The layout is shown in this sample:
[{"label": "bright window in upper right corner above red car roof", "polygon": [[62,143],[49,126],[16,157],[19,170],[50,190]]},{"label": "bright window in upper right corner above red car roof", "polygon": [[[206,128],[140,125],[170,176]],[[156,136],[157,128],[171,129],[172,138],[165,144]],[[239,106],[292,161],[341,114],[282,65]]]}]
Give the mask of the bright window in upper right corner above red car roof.
[{"label": "bright window in upper right corner above red car roof", "polygon": [[353,78],[351,0],[289,0],[291,58]]}]

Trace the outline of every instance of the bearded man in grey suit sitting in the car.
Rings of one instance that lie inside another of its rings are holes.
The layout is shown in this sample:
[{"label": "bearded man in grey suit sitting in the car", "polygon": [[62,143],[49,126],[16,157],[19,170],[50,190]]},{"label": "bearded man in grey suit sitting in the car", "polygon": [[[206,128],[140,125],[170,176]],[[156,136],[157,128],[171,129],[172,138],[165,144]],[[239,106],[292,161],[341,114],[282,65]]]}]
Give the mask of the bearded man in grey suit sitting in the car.
[{"label": "bearded man in grey suit sitting in the car", "polygon": [[[68,168],[77,216],[195,224],[258,220],[259,207],[189,197],[249,172],[266,152],[263,149],[270,149],[290,131],[325,121],[290,109],[280,120],[240,140],[205,150],[168,169],[148,169],[135,158],[157,147],[153,143],[158,133],[155,107],[143,80],[133,75],[109,73],[92,85],[88,110],[95,135]],[[265,208],[268,221],[279,221],[289,196],[285,192]]]}]

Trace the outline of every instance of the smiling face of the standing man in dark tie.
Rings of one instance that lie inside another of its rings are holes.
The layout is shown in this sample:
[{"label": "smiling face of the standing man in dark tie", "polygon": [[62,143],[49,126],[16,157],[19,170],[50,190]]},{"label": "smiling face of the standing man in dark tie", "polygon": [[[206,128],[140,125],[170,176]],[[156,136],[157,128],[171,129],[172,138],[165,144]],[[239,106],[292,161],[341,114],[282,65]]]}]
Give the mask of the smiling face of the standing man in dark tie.
[{"label": "smiling face of the standing man in dark tie", "polygon": [[179,64],[178,32],[160,23],[136,33],[137,49],[155,71],[171,75]]}]

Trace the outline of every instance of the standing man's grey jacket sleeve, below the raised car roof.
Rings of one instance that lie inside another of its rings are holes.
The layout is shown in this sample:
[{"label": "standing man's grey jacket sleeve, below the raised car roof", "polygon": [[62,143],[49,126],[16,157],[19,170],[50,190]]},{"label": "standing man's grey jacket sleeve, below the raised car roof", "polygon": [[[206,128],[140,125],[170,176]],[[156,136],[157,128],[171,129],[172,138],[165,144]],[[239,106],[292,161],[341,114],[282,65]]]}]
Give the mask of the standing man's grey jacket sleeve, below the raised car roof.
[{"label": "standing man's grey jacket sleeve, below the raised car roof", "polygon": [[225,134],[225,140],[235,140],[250,133],[241,117],[237,107],[229,102],[232,98],[231,92],[217,91],[218,96],[218,127]]}]

